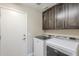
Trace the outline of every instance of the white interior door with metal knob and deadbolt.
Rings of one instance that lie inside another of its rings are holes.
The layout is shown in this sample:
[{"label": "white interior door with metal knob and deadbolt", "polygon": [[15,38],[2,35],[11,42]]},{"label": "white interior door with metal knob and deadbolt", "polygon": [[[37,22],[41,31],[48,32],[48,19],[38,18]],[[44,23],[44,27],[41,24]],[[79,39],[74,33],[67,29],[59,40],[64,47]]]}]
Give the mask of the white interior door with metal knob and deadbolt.
[{"label": "white interior door with metal knob and deadbolt", "polygon": [[26,55],[26,15],[1,8],[1,55]]}]

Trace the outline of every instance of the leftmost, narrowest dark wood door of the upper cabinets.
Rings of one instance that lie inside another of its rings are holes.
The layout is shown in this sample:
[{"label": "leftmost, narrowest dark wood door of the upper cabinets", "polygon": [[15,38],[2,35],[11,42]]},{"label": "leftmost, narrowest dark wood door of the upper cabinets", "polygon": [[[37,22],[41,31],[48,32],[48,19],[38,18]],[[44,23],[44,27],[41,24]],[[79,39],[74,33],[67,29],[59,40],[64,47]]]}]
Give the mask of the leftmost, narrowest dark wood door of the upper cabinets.
[{"label": "leftmost, narrowest dark wood door of the upper cabinets", "polygon": [[43,29],[49,29],[49,12],[46,11],[43,13]]}]

